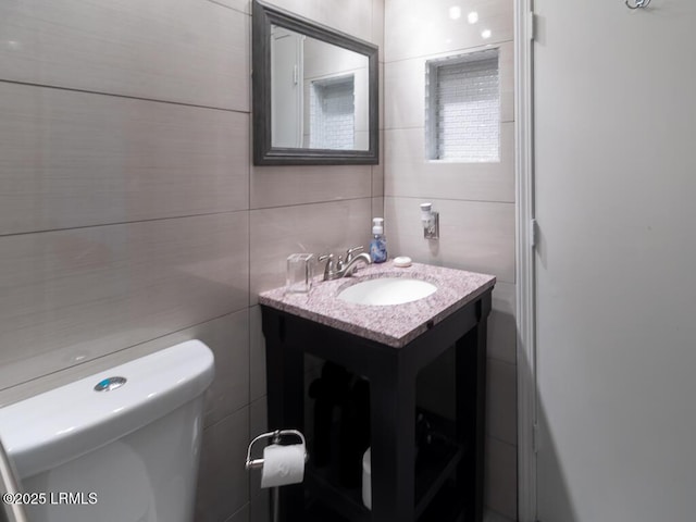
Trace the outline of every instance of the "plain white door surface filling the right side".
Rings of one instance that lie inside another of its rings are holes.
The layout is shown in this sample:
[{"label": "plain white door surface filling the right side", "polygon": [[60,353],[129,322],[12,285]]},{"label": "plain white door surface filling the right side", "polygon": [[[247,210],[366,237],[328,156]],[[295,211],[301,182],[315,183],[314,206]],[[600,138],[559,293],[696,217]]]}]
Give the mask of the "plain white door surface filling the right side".
[{"label": "plain white door surface filling the right side", "polygon": [[542,522],[696,513],[696,5],[535,1]]}]

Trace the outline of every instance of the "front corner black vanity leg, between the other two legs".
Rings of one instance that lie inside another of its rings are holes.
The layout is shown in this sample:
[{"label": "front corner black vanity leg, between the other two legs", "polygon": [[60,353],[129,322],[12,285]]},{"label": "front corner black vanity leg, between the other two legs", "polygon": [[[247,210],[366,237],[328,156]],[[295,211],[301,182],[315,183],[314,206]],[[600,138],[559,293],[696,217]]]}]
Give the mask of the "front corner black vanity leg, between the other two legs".
[{"label": "front corner black vanity leg, between the other two legs", "polygon": [[372,522],[413,522],[415,378],[380,377],[370,383]]}]

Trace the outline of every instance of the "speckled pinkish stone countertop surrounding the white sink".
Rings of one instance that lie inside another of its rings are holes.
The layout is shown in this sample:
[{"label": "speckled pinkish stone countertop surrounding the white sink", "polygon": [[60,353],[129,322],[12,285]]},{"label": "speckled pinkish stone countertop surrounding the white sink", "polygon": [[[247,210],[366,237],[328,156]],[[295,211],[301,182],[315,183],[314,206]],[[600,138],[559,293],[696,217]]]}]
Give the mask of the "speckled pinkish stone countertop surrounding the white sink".
[{"label": "speckled pinkish stone countertop surrounding the white sink", "polygon": [[[336,296],[347,286],[375,277],[411,277],[427,281],[437,290],[417,301],[393,306],[345,302]],[[361,266],[355,275],[334,281],[314,281],[309,294],[286,294],[275,288],[259,295],[259,302],[350,334],[401,348],[453,311],[482,295],[496,283],[493,275],[413,263],[400,269],[391,261]]]}]

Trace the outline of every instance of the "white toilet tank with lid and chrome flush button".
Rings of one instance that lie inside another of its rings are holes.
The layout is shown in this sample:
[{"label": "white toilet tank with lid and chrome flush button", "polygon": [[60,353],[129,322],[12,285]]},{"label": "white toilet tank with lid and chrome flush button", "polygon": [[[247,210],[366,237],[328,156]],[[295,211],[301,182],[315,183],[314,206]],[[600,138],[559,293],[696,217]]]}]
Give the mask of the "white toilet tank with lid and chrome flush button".
[{"label": "white toilet tank with lid and chrome flush button", "polygon": [[191,522],[213,372],[189,340],[0,409],[29,521]]}]

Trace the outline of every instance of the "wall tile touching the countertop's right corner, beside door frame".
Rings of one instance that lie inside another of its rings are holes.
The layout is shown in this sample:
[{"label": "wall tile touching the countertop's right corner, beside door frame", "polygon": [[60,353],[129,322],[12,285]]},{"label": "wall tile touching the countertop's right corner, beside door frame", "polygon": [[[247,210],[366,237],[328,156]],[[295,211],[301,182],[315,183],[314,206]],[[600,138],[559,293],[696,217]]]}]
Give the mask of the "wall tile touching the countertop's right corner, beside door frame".
[{"label": "wall tile touching the countertop's right corner, beside door frame", "polygon": [[517,363],[514,291],[514,285],[497,282],[488,315],[488,357],[510,364]]}]

